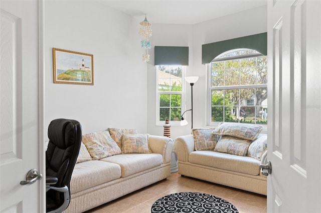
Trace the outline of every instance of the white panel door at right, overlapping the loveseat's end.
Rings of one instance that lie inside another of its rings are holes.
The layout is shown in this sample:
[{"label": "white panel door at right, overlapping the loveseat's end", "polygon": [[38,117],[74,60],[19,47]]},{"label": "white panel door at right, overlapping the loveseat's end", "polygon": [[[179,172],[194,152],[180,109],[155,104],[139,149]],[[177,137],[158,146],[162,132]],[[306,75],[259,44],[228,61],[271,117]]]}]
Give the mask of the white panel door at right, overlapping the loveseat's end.
[{"label": "white panel door at right, overlapping the loveseat's end", "polygon": [[268,212],[321,212],[320,11],[268,0]]}]

